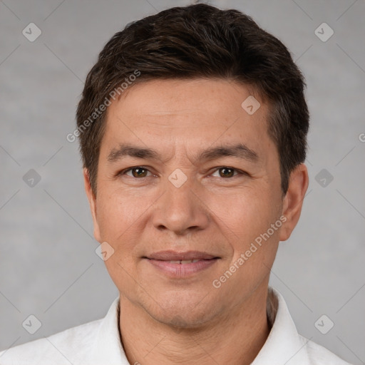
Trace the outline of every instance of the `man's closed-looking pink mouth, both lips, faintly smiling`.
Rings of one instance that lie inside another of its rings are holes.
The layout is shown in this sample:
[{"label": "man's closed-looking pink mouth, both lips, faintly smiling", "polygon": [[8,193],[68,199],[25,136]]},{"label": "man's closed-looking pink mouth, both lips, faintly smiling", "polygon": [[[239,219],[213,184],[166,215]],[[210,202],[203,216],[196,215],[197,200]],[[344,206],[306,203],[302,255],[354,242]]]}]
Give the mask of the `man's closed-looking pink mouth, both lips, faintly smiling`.
[{"label": "man's closed-looking pink mouth, both lips, faintly smiling", "polygon": [[207,252],[187,251],[160,251],[154,252],[148,257],[143,257],[156,269],[169,277],[191,277],[197,272],[208,269],[220,259]]}]

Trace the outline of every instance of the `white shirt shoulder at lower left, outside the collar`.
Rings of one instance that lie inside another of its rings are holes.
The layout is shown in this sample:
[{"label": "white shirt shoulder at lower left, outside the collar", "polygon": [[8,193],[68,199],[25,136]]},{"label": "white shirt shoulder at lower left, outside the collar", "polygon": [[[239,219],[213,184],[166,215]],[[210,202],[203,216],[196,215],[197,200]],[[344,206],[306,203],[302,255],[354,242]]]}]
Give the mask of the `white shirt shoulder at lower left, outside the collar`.
[{"label": "white shirt shoulder at lower left, outside the collar", "polygon": [[1,365],[77,364],[93,346],[102,319],[0,352]]}]

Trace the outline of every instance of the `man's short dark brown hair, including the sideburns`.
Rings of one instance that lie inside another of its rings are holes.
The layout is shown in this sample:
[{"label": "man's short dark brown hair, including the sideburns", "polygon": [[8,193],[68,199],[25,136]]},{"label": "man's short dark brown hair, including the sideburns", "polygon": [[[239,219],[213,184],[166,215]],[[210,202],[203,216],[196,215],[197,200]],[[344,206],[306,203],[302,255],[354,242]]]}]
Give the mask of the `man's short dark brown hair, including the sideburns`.
[{"label": "man's short dark brown hair, including the sideburns", "polygon": [[88,73],[76,118],[83,166],[94,194],[106,113],[93,113],[136,71],[133,84],[221,78],[255,88],[269,103],[268,133],[277,145],[282,192],[287,192],[290,173],[306,157],[309,111],[304,76],[284,44],[250,16],[195,4],[128,24],[106,43]]}]

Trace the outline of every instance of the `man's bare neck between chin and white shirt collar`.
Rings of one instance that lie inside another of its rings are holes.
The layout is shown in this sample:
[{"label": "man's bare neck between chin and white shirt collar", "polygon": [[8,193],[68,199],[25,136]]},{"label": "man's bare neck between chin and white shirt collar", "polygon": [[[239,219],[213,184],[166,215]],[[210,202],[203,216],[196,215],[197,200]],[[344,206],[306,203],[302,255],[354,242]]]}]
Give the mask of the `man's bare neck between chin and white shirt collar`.
[{"label": "man's bare neck between chin and white shirt collar", "polygon": [[120,295],[120,334],[130,364],[249,365],[269,335],[267,286],[215,323],[176,329]]}]

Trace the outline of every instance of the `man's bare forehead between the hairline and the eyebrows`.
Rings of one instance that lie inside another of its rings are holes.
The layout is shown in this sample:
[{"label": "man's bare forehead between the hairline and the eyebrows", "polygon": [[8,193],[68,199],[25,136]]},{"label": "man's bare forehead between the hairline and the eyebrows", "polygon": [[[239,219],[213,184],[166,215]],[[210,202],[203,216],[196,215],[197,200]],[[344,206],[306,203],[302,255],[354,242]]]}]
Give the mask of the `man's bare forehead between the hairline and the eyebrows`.
[{"label": "man's bare forehead between the hairline and the eyebrows", "polygon": [[153,148],[182,144],[188,150],[244,141],[259,150],[270,143],[267,113],[252,88],[233,81],[146,81],[108,107],[101,147],[133,141]]}]

